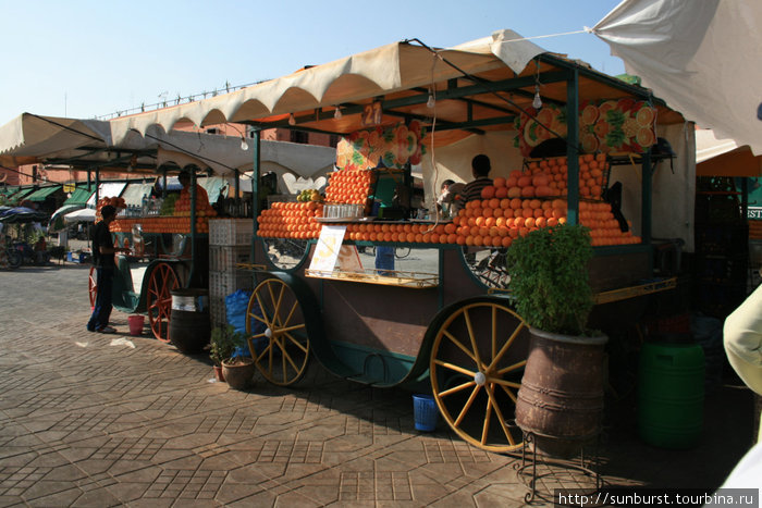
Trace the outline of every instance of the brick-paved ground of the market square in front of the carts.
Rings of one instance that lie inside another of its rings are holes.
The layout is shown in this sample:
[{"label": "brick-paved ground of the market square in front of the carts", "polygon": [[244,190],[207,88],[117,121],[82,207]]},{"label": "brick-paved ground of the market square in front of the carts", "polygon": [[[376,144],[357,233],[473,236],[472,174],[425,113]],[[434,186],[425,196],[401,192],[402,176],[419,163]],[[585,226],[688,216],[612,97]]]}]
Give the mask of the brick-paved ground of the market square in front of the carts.
[{"label": "brick-paved ground of the market square in front of the carts", "polygon": [[[317,362],[293,389],[261,377],[229,389],[207,358],[126,335],[126,314],[112,320],[124,335],[86,332],[86,284],[87,267],[71,263],[0,271],[0,506],[524,504],[520,458],[442,422],[417,432],[409,393]],[[614,402],[600,470],[613,485],[715,487],[750,446],[750,414],[747,391],[722,388],[701,445],[662,450],[637,439],[631,400]]]}]

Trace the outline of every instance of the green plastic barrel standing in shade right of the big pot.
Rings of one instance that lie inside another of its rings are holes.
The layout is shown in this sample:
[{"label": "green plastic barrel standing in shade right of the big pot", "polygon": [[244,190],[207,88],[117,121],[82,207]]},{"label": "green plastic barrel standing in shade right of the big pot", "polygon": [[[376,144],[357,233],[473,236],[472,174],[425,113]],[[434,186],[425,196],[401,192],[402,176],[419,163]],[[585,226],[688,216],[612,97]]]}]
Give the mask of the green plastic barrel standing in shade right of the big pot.
[{"label": "green plastic barrel standing in shade right of the big pot", "polygon": [[689,448],[703,428],[704,352],[698,344],[646,343],[638,372],[638,431],[648,444]]}]

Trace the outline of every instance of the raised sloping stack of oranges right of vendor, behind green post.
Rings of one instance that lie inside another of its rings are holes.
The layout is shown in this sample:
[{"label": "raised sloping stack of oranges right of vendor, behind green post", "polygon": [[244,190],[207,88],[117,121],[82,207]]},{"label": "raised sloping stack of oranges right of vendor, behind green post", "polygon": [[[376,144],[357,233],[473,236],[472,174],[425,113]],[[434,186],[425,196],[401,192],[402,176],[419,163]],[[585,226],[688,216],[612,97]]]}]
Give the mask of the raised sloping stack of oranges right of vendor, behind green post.
[{"label": "raised sloping stack of oranges right of vendor, behind green post", "polygon": [[[568,194],[568,164],[565,157],[529,161],[524,171],[512,171],[507,178],[499,176],[482,189],[482,199],[548,198]],[[601,199],[609,161],[604,153],[579,157],[579,195]]]}]

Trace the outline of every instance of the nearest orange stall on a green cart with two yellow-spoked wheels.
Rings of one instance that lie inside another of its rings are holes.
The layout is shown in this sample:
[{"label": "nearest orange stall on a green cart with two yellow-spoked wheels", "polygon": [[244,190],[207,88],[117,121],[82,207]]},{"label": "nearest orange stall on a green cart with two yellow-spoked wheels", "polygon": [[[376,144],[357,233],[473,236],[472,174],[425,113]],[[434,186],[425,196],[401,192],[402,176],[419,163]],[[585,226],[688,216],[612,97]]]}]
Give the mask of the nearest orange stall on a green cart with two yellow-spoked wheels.
[{"label": "nearest orange stall on a green cart with two yellow-spoked wheels", "polygon": [[[649,90],[511,30],[448,49],[389,45],[118,119],[114,135],[181,120],[246,124],[255,144],[270,127],[342,136],[324,200],[299,193],[268,202],[253,224],[255,262],[268,267],[255,270],[249,302],[259,324],[249,345],[262,375],[291,385],[315,356],[335,374],[376,386],[430,381],[445,421],[486,449],[521,446],[508,408],[521,382],[526,327],[509,297],[493,293],[504,286],[501,256],[514,235],[551,219],[591,226],[590,277],[604,326],[639,317],[637,306],[613,306],[671,287],[653,280],[654,234],[692,237],[690,198],[673,206],[692,194],[685,189],[693,179],[692,127]],[[441,183],[469,181],[477,153],[493,161],[492,195],[463,215],[438,216]],[[417,165],[426,194],[414,207]],[[669,221],[654,223],[657,207],[671,208]],[[395,258],[398,247],[415,256]],[[391,255],[379,260],[383,250]],[[413,258],[417,264],[403,270]]]}]

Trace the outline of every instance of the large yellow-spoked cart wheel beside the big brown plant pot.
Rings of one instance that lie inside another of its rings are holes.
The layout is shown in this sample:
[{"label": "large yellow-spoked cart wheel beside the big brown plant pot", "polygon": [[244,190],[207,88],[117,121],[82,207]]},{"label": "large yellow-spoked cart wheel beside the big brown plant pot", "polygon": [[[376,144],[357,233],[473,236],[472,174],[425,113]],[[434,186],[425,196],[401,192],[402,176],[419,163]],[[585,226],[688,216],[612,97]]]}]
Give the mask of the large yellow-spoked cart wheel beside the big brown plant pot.
[{"label": "large yellow-spoked cart wheel beside the big brown plant pot", "polygon": [[437,330],[429,376],[447,424],[491,451],[521,447],[514,412],[528,355],[528,327],[501,298],[455,305]]}]

